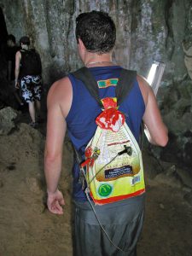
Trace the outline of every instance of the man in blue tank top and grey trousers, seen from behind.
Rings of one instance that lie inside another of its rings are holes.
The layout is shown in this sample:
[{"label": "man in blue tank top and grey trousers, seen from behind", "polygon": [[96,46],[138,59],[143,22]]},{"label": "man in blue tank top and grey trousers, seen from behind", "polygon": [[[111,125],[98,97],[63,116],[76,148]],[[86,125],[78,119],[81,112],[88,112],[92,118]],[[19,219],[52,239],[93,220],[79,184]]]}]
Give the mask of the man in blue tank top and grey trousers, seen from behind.
[{"label": "man in blue tank top and grey trousers, seen from behind", "polygon": [[[78,51],[85,67],[96,80],[119,78],[121,67],[112,62],[116,29],[108,14],[92,11],[77,18]],[[115,86],[99,89],[101,98],[115,96]],[[134,86],[120,104],[126,123],[138,141],[142,120],[148,128],[150,143],[165,146],[167,129],[160,117],[154,94],[147,82],[137,76]],[[49,90],[48,123],[44,172],[47,183],[47,205],[50,212],[62,214],[64,199],[58,189],[61,174],[62,143],[66,131],[79,154],[96,131],[96,117],[102,110],[90,96],[83,82],[73,74],[61,79]],[[79,184],[79,166],[73,166],[73,198],[75,204],[74,255],[136,255],[137,239],[141,233],[144,194],[127,200],[96,206],[102,230]],[[108,234],[106,236],[105,232]]]}]

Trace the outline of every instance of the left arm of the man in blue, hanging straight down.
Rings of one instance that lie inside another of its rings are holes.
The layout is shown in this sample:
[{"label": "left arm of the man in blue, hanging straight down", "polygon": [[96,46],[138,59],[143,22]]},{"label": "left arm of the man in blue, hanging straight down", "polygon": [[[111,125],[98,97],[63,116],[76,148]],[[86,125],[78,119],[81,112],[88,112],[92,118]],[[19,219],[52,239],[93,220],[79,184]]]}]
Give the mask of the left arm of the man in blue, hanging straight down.
[{"label": "left arm of the man in blue, hanging straight down", "polygon": [[62,214],[64,199],[57,189],[61,176],[62,147],[67,129],[65,117],[69,111],[70,84],[68,79],[57,81],[49,90],[47,137],[44,152],[44,173],[47,183],[49,211]]}]

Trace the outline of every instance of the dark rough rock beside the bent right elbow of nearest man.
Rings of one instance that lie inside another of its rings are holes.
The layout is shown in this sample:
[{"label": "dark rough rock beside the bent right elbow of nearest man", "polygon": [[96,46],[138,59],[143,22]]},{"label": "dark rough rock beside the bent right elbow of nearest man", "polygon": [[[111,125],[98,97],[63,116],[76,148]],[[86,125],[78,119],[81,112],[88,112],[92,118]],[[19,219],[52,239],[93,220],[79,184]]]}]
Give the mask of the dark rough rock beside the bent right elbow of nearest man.
[{"label": "dark rough rock beside the bent right elbow of nearest man", "polygon": [[160,90],[160,109],[169,130],[166,148],[153,147],[154,155],[177,162],[191,173],[192,166],[192,81],[173,82]]}]

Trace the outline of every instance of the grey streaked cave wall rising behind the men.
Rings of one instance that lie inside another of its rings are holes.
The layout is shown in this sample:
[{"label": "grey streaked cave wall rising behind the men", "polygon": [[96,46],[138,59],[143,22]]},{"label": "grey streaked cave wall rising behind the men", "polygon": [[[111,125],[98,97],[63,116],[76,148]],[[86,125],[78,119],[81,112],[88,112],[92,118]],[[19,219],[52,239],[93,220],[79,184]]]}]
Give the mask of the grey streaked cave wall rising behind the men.
[{"label": "grey streaked cave wall rising behind the men", "polygon": [[75,18],[92,9],[107,11],[117,26],[115,60],[147,76],[153,60],[166,62],[165,81],[183,79],[181,43],[192,32],[190,0],[0,0],[9,33],[32,38],[52,83],[80,67]]}]

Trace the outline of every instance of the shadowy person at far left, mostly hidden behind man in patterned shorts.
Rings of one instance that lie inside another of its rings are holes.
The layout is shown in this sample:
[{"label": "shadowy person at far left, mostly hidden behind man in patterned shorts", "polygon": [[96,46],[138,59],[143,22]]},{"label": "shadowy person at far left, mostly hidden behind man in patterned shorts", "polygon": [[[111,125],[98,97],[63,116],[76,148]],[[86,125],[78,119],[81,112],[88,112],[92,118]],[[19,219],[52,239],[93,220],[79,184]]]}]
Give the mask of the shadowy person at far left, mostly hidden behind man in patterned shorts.
[{"label": "shadowy person at far left, mostly hidden behind man in patterned shorts", "polygon": [[9,81],[9,90],[14,93],[16,101],[22,107],[24,104],[20,100],[19,89],[15,88],[15,54],[18,51],[18,47],[16,45],[15,36],[10,34],[7,39],[7,61],[8,61],[8,81]]}]

